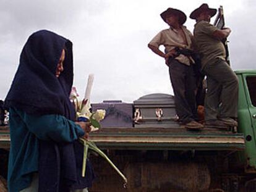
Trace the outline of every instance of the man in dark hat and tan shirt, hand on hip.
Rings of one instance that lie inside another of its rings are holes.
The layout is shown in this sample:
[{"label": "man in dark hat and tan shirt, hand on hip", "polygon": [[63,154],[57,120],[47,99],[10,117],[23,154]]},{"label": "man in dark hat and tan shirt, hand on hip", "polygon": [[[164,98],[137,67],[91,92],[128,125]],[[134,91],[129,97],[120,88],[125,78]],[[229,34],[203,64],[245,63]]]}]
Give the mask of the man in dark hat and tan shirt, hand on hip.
[{"label": "man in dark hat and tan shirt, hand on hip", "polygon": [[[148,48],[158,56],[163,57],[169,67],[176,112],[181,125],[185,125],[187,128],[203,128],[202,124],[195,121],[197,119],[197,109],[195,102],[195,73],[192,66],[194,61],[191,57],[183,54],[177,56],[175,51],[175,48],[193,49],[193,36],[183,26],[187,17],[181,10],[173,8],[168,8],[160,16],[164,22],[168,23],[169,28],[160,31],[148,43]],[[160,51],[160,45],[164,46],[164,52]]]}]

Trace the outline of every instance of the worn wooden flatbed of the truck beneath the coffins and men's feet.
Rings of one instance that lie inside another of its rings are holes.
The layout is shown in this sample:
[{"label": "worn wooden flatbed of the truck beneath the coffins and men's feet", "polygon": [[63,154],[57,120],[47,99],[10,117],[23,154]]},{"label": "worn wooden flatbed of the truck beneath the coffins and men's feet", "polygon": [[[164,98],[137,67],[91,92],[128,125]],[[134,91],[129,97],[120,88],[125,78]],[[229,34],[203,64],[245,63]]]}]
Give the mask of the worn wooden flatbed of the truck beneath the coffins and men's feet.
[{"label": "worn wooden flatbed of the truck beneath the coffins and men's feet", "polygon": [[[90,133],[101,149],[228,150],[245,148],[244,135],[228,127],[205,127],[202,131],[173,128],[101,128]],[[0,148],[9,148],[9,127],[0,127]]]}]

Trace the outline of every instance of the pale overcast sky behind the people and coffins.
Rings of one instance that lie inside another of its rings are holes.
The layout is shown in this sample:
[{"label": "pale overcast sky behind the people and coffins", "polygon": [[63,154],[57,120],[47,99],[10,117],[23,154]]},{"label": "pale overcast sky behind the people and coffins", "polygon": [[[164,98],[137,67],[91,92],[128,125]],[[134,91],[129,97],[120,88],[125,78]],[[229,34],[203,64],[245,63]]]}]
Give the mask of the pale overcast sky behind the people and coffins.
[{"label": "pale overcast sky behind the people and coffins", "polygon": [[[224,8],[231,28],[231,67],[255,69],[256,22],[254,0],[148,1],[148,0],[0,0],[0,99],[19,65],[28,36],[47,29],[74,44],[74,86],[81,95],[88,74],[94,73],[92,102],[120,99],[133,102],[150,93],[173,94],[164,59],[147,48],[159,31],[168,28],[160,13],[168,7],[183,10],[184,25],[193,31],[192,10],[207,2]],[[213,22],[215,17],[211,19]]]}]

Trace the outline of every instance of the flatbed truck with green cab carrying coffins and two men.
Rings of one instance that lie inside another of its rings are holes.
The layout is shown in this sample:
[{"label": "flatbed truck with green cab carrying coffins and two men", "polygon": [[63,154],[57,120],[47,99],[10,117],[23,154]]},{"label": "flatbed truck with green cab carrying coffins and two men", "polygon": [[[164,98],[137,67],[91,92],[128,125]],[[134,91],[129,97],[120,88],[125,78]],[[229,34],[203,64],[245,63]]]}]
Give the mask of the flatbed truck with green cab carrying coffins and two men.
[{"label": "flatbed truck with green cab carrying coffins and two men", "polygon": [[[101,128],[90,140],[103,149],[128,179],[90,154],[96,180],[90,191],[256,191],[256,70],[239,78],[237,127],[205,126]],[[113,122],[114,123],[114,122]],[[9,128],[0,127],[0,174],[6,178]]]}]

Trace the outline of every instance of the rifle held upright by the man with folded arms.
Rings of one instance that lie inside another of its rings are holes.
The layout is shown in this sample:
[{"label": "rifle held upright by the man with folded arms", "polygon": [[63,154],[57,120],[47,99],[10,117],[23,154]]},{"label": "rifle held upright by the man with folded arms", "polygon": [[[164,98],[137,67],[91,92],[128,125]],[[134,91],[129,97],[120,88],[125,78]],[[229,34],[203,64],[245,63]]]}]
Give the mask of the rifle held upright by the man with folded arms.
[{"label": "rifle held upright by the man with folded arms", "polygon": [[[220,30],[224,28],[225,20],[224,20],[224,14],[223,14],[223,6],[220,6],[220,8],[218,9],[218,15],[217,15],[213,25],[215,25],[215,27],[217,27]],[[224,38],[224,40],[222,41],[222,43],[224,44],[224,47],[226,49],[226,61],[230,65],[229,51],[228,51],[228,42],[229,41],[228,41],[227,38]]]}]

